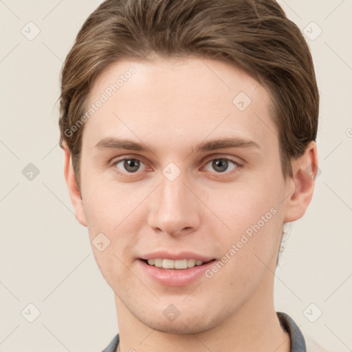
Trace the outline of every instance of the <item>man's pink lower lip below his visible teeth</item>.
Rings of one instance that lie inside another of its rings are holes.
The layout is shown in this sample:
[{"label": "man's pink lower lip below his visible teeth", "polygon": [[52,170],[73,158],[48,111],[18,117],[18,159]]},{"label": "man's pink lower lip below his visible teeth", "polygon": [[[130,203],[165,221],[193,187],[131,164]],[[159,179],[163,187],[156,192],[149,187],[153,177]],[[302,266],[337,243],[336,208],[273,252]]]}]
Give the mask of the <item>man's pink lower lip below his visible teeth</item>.
[{"label": "man's pink lower lip below his visible teeth", "polygon": [[187,269],[160,269],[153,265],[148,265],[141,259],[139,260],[144,272],[154,281],[166,286],[186,286],[193,283],[214,263],[210,261],[206,264],[188,267]]}]

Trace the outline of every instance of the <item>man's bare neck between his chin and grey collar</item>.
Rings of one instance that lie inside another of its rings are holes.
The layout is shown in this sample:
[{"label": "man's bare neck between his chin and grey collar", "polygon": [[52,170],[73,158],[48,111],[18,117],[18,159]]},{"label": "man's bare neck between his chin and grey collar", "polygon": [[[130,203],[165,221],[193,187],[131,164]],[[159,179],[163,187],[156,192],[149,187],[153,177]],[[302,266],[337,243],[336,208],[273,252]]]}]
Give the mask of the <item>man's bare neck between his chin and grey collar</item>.
[{"label": "man's bare neck between his chin and grey collar", "polygon": [[212,329],[173,334],[152,329],[131,314],[115,296],[120,344],[118,351],[178,352],[289,352],[289,335],[281,327],[274,309],[274,275],[270,270],[254,295],[241,309]]}]

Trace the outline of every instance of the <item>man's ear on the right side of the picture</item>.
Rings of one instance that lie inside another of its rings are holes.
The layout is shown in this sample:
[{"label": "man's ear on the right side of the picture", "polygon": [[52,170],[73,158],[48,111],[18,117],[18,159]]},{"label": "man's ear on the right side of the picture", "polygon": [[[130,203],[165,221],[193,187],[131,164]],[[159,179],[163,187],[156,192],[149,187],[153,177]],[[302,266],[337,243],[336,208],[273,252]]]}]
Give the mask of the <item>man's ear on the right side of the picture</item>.
[{"label": "man's ear on the right side of the picture", "polygon": [[318,173],[316,143],[309,142],[305,153],[292,164],[293,175],[287,181],[287,197],[284,222],[296,221],[303,217],[311,198]]}]

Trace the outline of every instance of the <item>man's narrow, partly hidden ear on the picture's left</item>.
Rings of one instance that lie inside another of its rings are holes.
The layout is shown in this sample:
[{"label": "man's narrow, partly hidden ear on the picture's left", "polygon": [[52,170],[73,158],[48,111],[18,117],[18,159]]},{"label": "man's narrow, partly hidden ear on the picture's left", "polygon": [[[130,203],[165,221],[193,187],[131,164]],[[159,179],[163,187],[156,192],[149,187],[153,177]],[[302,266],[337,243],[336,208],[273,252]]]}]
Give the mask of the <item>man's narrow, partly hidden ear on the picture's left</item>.
[{"label": "man's narrow, partly hidden ear on the picture's left", "polygon": [[83,208],[83,200],[80,194],[80,190],[77,185],[76,175],[74,174],[74,168],[72,166],[72,158],[69,153],[67,144],[63,145],[63,151],[65,153],[65,179],[67,189],[69,191],[69,197],[71,198],[72,205],[74,206],[74,212],[76,214],[76,220],[83,226],[87,226],[87,219],[85,217],[85,210]]}]

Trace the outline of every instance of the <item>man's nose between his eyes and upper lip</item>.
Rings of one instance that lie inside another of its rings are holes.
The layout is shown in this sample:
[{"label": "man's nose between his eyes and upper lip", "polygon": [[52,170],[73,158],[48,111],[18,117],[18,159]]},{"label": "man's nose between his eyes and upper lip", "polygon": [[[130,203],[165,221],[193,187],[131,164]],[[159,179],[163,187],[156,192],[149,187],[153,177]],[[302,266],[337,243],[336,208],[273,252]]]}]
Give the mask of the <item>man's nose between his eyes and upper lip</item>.
[{"label": "man's nose between his eyes and upper lip", "polygon": [[180,236],[199,228],[201,202],[185,181],[182,173],[173,181],[161,175],[148,214],[148,225],[156,232]]}]

